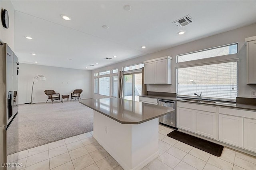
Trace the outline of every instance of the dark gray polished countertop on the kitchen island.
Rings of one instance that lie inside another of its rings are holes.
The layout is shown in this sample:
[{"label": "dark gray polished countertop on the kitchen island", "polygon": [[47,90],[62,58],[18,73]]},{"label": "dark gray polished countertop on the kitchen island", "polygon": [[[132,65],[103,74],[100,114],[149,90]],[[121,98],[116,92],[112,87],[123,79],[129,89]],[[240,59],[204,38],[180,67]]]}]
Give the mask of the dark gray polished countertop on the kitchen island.
[{"label": "dark gray polished countertop on the kitchen island", "polygon": [[170,107],[120,98],[84,99],[80,103],[122,124],[140,124],[174,111]]}]

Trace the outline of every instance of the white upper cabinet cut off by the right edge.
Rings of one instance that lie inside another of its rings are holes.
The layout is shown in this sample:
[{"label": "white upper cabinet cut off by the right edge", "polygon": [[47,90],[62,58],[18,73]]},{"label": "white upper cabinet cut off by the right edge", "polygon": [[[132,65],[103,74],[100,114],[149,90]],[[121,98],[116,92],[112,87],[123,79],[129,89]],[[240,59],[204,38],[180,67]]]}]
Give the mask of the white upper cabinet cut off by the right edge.
[{"label": "white upper cabinet cut off by the right edge", "polygon": [[247,48],[247,84],[256,84],[256,36],[245,39]]}]

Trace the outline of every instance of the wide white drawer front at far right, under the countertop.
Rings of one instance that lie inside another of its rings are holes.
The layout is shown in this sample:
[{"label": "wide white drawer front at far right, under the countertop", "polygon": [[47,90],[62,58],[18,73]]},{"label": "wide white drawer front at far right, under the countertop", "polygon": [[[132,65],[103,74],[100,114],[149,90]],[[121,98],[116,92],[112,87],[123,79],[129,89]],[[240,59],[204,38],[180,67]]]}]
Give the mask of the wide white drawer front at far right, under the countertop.
[{"label": "wide white drawer front at far right, under the countertop", "polygon": [[240,116],[244,118],[256,119],[256,112],[250,110],[240,110],[240,109],[231,109],[219,107],[220,114],[228,114],[232,116]]}]

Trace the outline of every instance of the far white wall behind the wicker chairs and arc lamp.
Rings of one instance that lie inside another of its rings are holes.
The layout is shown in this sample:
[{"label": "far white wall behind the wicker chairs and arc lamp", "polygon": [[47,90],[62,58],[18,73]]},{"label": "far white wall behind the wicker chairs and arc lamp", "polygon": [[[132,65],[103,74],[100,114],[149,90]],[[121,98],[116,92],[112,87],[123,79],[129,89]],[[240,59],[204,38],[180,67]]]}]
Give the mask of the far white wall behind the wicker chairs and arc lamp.
[{"label": "far white wall behind the wicker chairs and arc lamp", "polygon": [[92,71],[20,63],[19,104],[30,102],[32,79],[39,74],[44,75],[47,80],[34,83],[33,102],[46,102],[48,97],[44,90],[70,95],[75,89],[82,89],[81,98],[91,98]]}]

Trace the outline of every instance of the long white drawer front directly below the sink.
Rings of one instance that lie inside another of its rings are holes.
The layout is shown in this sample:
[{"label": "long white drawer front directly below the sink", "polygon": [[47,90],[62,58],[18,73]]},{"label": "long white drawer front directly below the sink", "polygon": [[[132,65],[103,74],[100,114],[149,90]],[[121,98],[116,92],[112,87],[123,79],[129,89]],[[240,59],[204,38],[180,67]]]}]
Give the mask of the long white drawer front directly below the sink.
[{"label": "long white drawer front directly below the sink", "polygon": [[206,112],[214,112],[216,113],[216,106],[207,106],[203,104],[191,104],[187,102],[177,102],[177,107],[182,107],[182,108],[190,108],[194,110],[202,110]]}]

